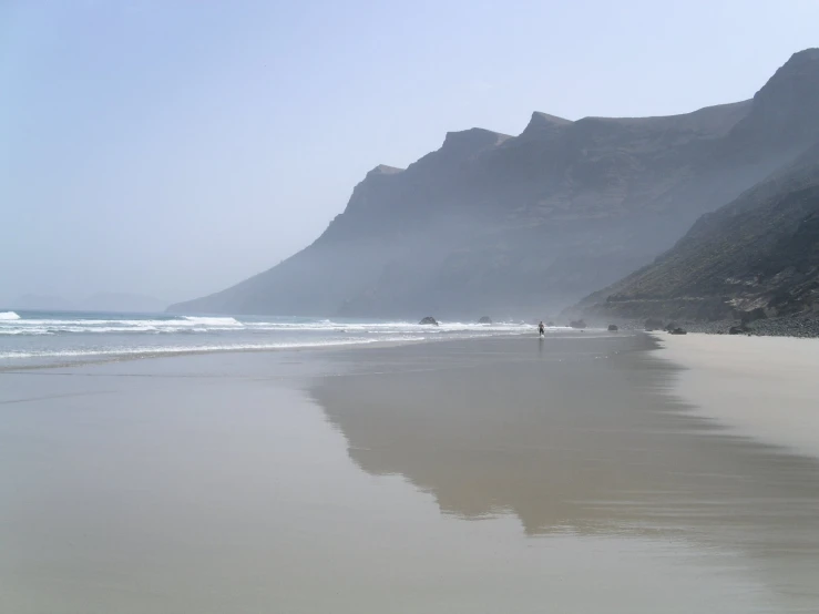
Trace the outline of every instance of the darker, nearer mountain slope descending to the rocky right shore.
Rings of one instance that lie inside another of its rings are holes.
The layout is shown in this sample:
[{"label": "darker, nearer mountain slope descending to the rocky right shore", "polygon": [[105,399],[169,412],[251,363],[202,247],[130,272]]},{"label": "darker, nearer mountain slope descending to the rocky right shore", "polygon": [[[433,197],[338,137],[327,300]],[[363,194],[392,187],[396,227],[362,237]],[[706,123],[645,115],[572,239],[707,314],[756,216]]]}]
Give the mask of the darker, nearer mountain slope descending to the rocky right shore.
[{"label": "darker, nearer mountain slope descending to the rocky right shore", "polygon": [[819,318],[819,143],[702,216],[653,264],[583,300],[586,315]]}]

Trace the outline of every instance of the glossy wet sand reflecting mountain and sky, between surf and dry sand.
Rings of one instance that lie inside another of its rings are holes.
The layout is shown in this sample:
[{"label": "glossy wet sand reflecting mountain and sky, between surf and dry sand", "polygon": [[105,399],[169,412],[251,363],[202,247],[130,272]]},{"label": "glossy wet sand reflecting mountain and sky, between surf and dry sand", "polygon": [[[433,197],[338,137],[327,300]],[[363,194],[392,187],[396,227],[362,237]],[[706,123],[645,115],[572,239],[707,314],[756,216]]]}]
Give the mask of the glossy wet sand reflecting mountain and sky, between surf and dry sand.
[{"label": "glossy wet sand reflecting mountain and sky, between surf and dry sand", "polygon": [[647,336],[0,373],[0,611],[806,612],[819,462]]}]

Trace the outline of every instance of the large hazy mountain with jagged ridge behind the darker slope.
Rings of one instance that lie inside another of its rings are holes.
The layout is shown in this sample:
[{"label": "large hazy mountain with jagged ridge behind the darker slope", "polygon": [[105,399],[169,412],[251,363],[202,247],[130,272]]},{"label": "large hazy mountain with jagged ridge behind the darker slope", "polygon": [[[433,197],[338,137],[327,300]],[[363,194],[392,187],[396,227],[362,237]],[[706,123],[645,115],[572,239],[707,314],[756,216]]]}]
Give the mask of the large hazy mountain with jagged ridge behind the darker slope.
[{"label": "large hazy mountain with jagged ridge behind the darker slope", "polygon": [[377,166],[309,247],[184,313],[475,317],[554,311],[651,263],[819,140],[819,50],[753,100],[663,117],[534,113]]}]

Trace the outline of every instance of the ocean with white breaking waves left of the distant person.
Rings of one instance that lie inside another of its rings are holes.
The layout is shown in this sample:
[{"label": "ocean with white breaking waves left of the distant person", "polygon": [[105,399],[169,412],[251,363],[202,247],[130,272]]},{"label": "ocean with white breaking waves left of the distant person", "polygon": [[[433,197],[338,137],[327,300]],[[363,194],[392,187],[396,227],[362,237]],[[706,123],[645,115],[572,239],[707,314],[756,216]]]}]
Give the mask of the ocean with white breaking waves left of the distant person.
[{"label": "ocean with white breaking waves left of the distant person", "polygon": [[531,332],[520,321],[321,319],[273,316],[0,310],[0,369],[190,352],[411,342]]}]

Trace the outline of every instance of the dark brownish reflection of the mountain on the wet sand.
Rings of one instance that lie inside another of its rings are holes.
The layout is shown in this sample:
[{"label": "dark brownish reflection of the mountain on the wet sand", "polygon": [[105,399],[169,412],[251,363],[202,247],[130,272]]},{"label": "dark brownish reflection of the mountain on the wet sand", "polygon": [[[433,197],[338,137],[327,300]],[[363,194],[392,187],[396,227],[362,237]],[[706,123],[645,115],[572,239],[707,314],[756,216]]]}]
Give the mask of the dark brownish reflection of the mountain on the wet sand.
[{"label": "dark brownish reflection of the mountain on the wet sand", "polygon": [[586,335],[373,350],[311,392],[361,469],[405,475],[444,513],[736,550],[819,603],[819,462],[695,417],[652,349]]}]

